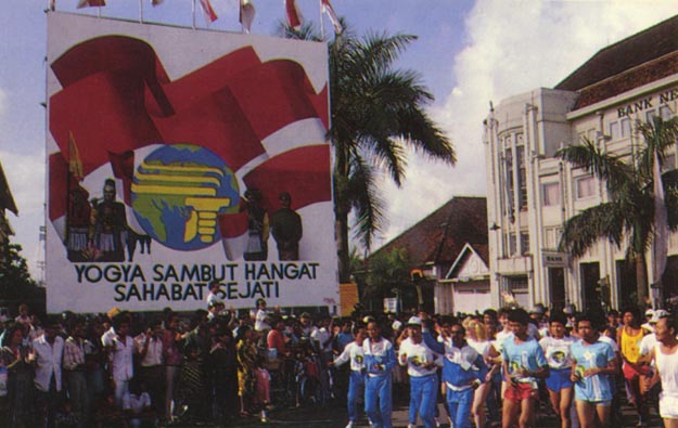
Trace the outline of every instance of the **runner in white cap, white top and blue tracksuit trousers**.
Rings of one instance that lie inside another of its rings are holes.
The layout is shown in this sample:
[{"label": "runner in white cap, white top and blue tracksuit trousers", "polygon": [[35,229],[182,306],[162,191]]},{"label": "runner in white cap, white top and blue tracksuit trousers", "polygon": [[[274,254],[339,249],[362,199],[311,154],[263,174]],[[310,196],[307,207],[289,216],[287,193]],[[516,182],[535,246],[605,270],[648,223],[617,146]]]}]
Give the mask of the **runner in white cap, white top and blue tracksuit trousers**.
[{"label": "runner in white cap, white top and blue tracksuit trousers", "polygon": [[400,343],[398,362],[407,365],[410,376],[410,425],[417,425],[417,413],[425,428],[435,428],[435,407],[438,399],[438,365],[440,354],[433,352],[422,341],[421,319],[412,316],[408,322],[409,337]]}]

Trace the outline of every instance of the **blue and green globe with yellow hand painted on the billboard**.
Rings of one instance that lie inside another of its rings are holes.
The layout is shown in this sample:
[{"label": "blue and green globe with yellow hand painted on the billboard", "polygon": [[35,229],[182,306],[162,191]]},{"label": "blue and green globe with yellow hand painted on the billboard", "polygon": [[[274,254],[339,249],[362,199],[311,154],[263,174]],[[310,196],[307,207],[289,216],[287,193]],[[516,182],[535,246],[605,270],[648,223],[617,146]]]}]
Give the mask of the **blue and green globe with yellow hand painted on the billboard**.
[{"label": "blue and green globe with yellow hand painted on the billboard", "polygon": [[164,145],[135,170],[131,200],[148,235],[177,250],[206,248],[219,237],[218,217],[239,210],[238,180],[214,152]]}]

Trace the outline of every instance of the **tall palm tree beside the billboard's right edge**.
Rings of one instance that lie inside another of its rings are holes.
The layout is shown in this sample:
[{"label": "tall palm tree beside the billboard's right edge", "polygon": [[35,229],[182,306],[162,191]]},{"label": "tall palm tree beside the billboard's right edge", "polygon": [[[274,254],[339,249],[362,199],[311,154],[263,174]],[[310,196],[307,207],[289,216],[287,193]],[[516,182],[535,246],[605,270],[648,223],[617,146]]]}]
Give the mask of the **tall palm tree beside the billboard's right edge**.
[{"label": "tall palm tree beside the billboard's right edge", "polygon": [[[283,35],[319,39],[308,26],[298,31],[286,27]],[[433,95],[417,73],[394,65],[415,39],[386,33],[357,37],[344,30],[329,42],[329,139],[335,151],[334,212],[341,282],[349,281],[349,213],[354,212],[356,219],[354,236],[367,250],[384,225],[378,173],[386,171],[399,186],[406,173],[406,147],[448,165],[457,160],[451,142],[424,111]]]}]

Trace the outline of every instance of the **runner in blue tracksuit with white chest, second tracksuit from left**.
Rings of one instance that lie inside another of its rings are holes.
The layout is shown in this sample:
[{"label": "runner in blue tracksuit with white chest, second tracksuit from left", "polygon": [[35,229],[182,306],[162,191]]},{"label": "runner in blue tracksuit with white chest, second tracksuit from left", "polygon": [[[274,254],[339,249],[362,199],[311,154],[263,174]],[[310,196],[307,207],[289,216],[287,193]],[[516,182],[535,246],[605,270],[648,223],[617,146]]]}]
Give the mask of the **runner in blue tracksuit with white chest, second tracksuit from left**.
[{"label": "runner in blue tracksuit with white chest, second tracksuit from left", "polygon": [[[362,343],[367,379],[364,388],[364,412],[374,428],[393,428],[391,412],[393,407],[393,386],[391,372],[396,366],[396,353],[393,345],[381,336],[379,325],[368,323],[368,340]],[[379,399],[379,407],[376,400]]]}]

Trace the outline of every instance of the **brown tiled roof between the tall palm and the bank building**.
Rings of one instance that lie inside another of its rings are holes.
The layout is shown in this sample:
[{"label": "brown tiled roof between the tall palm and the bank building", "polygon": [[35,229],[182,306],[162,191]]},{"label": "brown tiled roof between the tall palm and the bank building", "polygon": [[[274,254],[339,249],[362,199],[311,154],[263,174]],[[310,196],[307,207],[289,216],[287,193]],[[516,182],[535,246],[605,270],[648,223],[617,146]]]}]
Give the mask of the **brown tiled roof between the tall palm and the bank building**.
[{"label": "brown tiled roof between the tall palm and the bank building", "polygon": [[426,218],[374,251],[371,257],[405,248],[412,268],[426,263],[449,267],[469,243],[483,260],[487,246],[487,200],[485,197],[453,197]]}]

